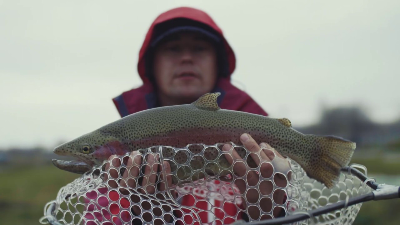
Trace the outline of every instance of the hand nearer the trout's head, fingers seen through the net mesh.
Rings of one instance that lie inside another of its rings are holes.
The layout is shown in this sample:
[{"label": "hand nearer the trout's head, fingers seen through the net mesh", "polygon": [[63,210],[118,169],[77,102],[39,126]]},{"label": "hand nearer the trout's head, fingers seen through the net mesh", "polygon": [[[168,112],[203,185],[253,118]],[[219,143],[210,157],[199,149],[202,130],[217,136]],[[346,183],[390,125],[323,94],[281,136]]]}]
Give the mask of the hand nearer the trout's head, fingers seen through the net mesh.
[{"label": "hand nearer the trout's head, fingers seen through the net mesh", "polygon": [[[119,160],[117,157],[114,155],[109,157],[109,160],[112,164],[113,167],[120,167],[121,160]],[[159,155],[154,155],[153,153],[148,154],[147,159],[145,160],[146,162],[143,161],[143,156],[138,153],[138,151],[133,151],[126,163],[126,169],[122,174],[122,179],[119,181],[119,186],[120,187],[130,187],[133,189],[136,189],[142,194],[154,194],[157,191],[164,191],[166,189],[166,185],[168,187],[172,187],[172,178],[171,176],[166,176],[164,177],[164,174],[170,174],[171,173],[171,167],[170,164],[166,161],[162,162],[165,168],[165,173],[160,173],[160,175],[157,175],[156,173],[162,171],[162,165],[160,163],[160,158]],[[142,165],[146,164],[144,167],[144,176],[142,179],[139,179],[140,175],[140,168],[142,168]],[[106,170],[110,168],[110,163],[106,164]],[[153,171],[153,172],[152,172]],[[110,169],[110,176],[114,179],[118,179],[120,176],[120,172],[118,172],[115,169]],[[160,176],[160,177],[158,177]],[[108,177],[106,176],[105,179],[107,180]],[[166,182],[165,182],[166,180]],[[158,183],[158,187],[156,187],[156,183],[158,181],[161,181]],[[118,187],[118,184],[115,181],[111,181],[108,183],[110,187]],[[168,193],[172,194],[172,193]],[[156,195],[161,200],[164,200],[164,195]],[[176,197],[173,196],[173,197]],[[134,203],[139,203],[140,202],[140,197],[138,195],[132,195],[131,196],[131,201]],[[142,213],[142,209],[150,209],[151,205],[150,203],[142,203],[141,205],[134,205],[132,207],[133,212],[135,215],[141,215],[143,219],[146,222],[151,222],[154,221],[152,214],[150,213]],[[168,206],[163,206],[163,207],[168,207]],[[164,209],[168,211],[167,209]],[[154,216],[162,216],[162,211],[153,211]],[[166,215],[164,217],[165,221],[170,221],[171,217],[170,215]],[[162,221],[159,219],[154,221],[154,224],[164,224]]]}]

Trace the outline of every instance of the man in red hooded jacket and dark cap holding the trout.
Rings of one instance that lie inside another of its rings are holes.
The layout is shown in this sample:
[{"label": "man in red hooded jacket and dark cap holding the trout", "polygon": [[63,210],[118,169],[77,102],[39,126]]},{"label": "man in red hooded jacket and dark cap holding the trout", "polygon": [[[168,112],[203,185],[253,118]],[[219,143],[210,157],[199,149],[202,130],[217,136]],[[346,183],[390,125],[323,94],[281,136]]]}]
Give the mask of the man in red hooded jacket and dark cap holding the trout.
[{"label": "man in red hooded jacket and dark cap holding the trout", "polygon": [[[204,11],[190,7],[179,7],[168,10],[160,14],[151,24],[142,48],[139,52],[138,74],[143,84],[138,88],[127,90],[113,98],[113,102],[121,117],[126,117],[135,112],[142,110],[172,106],[179,104],[190,104],[203,94],[208,92],[220,92],[218,105],[222,109],[238,110],[242,112],[250,112],[258,115],[268,116],[268,114],[244,91],[234,86],[230,80],[235,70],[236,57],[234,51],[228,44],[222,30],[217,26],[214,20]],[[242,134],[240,141],[249,151],[260,151],[261,147],[272,149],[267,143],[256,143],[248,134]],[[223,151],[228,151],[230,145],[225,145]],[[239,157],[233,151],[234,157]],[[278,157],[282,157],[275,152]],[[272,160],[271,151],[263,150],[260,155],[265,160]],[[252,156],[253,157],[253,156]],[[283,158],[283,157],[282,157]],[[113,157],[110,157],[113,159]],[[254,158],[256,159],[256,158]],[[155,157],[150,155],[148,161],[154,161]],[[128,166],[135,163],[142,163],[136,151],[132,153],[132,158],[128,161]],[[137,161],[137,162],[136,162]],[[256,162],[260,159],[256,159]],[[116,163],[116,161],[112,161]],[[230,159],[232,163],[232,158]],[[118,165],[115,165],[118,166]],[[170,165],[164,162],[166,173],[170,173]],[[153,168],[153,171],[160,171],[161,168]],[[261,170],[271,171],[267,165],[262,166]],[[150,166],[145,167],[144,174],[149,174]],[[246,171],[244,165],[234,167],[236,173]],[[131,175],[138,175],[139,171],[130,171]],[[111,174],[111,176],[113,176]],[[125,171],[123,177],[128,176]],[[247,176],[249,184],[256,184],[260,174],[250,172]],[[116,175],[118,177],[118,175]],[[154,183],[155,177],[146,177],[140,186],[146,186],[147,183]],[[168,185],[171,185],[171,179],[166,179]],[[213,181],[216,189],[220,188],[223,183]],[[279,177],[276,181],[281,187],[286,186],[286,178]],[[128,184],[130,187],[136,187],[136,183]],[[272,184],[271,184],[272,185]],[[165,184],[161,185],[161,191],[165,189]],[[237,187],[237,188],[236,188]],[[260,191],[271,189],[272,187],[260,187]],[[154,193],[155,188],[146,190],[148,193]],[[245,183],[236,183],[236,193],[244,193],[246,191]],[[265,193],[263,193],[265,194]],[[232,193],[234,195],[234,193]],[[193,205],[193,198],[184,196],[180,201],[182,205]],[[257,201],[258,193],[250,193],[246,195],[249,202]],[[278,202],[284,202],[284,195],[278,196]],[[276,200],[274,198],[274,200]],[[207,199],[212,201],[213,205],[221,206],[223,203],[216,203],[215,199]],[[218,205],[219,204],[219,205]],[[235,203],[224,204],[223,209],[226,212],[236,209]],[[272,207],[271,202],[261,202]],[[239,207],[246,209],[246,201],[242,201]],[[263,207],[263,206],[261,206]],[[284,215],[282,209],[274,210],[274,217]],[[140,209],[134,209],[134,214],[140,214]],[[236,219],[245,219],[250,217],[258,219],[260,211],[251,210],[249,215],[238,215]],[[207,221],[209,215],[200,215],[201,221]],[[204,218],[203,218],[204,217]],[[217,216],[218,217],[218,216]],[[187,221],[185,221],[187,222]],[[232,223],[234,221],[223,221],[224,223]],[[187,223],[190,223],[187,222]]]}]

